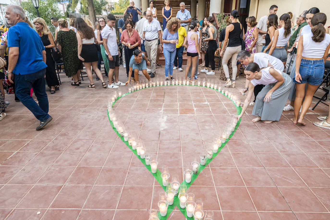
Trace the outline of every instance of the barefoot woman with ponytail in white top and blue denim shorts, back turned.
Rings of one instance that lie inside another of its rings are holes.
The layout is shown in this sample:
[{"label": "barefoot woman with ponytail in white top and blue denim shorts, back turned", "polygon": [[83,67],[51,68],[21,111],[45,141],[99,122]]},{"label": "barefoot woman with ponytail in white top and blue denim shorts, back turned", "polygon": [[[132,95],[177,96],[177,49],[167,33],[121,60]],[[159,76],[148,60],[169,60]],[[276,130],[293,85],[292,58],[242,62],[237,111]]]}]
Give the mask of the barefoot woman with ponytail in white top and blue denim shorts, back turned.
[{"label": "barefoot woman with ponytail in white top and blue denim shorts, back turned", "polygon": [[[311,19],[312,33],[304,34],[298,42],[296,76],[293,78],[293,82],[296,84],[296,99],[294,118],[291,118],[294,124],[305,125],[304,116],[312,103],[318,85],[323,79],[324,63],[330,48],[330,35],[326,33],[324,28],[326,20],[327,16],[324,13],[315,14]],[[308,84],[305,92],[306,83]],[[299,116],[301,106],[302,110]]]}]

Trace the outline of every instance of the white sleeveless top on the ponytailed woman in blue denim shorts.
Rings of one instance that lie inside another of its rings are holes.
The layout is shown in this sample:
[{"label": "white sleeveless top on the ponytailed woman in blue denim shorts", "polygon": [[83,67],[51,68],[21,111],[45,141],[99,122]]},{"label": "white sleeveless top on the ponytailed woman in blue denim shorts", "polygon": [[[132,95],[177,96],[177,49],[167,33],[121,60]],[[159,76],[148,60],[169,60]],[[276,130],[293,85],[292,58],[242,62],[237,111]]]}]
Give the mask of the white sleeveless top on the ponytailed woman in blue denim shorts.
[{"label": "white sleeveless top on the ponytailed woman in blue denim shorts", "polygon": [[303,37],[303,57],[323,58],[324,51],[330,43],[330,35],[325,34],[322,42],[315,42],[312,39],[313,34],[304,34]]}]

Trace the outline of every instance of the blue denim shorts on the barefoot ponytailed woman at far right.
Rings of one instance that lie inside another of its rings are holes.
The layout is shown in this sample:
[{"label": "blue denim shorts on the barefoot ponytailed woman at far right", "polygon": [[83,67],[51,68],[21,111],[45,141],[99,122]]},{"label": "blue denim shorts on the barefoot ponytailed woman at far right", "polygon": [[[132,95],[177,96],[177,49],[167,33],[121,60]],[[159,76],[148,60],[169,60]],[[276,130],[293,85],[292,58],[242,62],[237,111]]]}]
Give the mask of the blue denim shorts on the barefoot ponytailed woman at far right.
[{"label": "blue denim shorts on the barefoot ponytailed woman at far right", "polygon": [[295,77],[293,82],[302,84],[308,82],[311,85],[319,85],[322,82],[324,74],[324,60],[305,60],[301,59],[299,73],[301,76],[300,82],[297,82]]}]

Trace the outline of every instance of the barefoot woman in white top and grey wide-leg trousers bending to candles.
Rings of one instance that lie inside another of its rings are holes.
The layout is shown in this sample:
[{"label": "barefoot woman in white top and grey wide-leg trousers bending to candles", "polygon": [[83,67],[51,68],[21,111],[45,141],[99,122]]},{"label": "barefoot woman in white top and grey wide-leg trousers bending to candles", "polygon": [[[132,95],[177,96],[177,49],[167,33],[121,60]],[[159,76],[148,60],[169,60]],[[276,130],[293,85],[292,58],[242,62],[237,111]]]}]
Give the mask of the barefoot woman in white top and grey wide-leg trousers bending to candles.
[{"label": "barefoot woman in white top and grey wide-leg trousers bending to candles", "polygon": [[248,96],[238,119],[243,116],[251,102],[254,86],[265,85],[255,99],[252,114],[257,117],[252,122],[260,120],[264,123],[279,121],[292,87],[290,76],[273,67],[260,69],[258,64],[253,62],[245,67],[244,73],[251,83],[249,83]]}]

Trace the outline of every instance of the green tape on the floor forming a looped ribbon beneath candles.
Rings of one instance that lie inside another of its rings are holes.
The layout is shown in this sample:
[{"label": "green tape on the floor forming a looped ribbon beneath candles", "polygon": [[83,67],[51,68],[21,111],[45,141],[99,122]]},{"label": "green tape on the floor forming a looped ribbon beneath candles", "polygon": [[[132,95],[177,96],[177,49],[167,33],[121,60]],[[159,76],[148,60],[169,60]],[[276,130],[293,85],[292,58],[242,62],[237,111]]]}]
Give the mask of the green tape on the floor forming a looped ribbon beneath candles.
[{"label": "green tape on the floor forming a looped ribbon beneath candles", "polygon": [[[165,86],[165,85],[162,85],[162,86]],[[188,86],[193,86],[193,85],[188,85]],[[198,85],[194,85],[194,86],[198,86]],[[158,86],[157,86],[158,87]],[[148,88],[151,88],[151,87],[148,87]],[[208,88],[208,87],[205,87],[205,88]],[[137,90],[136,90],[137,91]],[[133,91],[132,91],[133,92]],[[116,101],[117,100],[119,100],[120,98],[122,98],[122,97],[124,97],[124,96],[126,96],[127,94],[129,94],[129,93],[125,93],[125,94],[123,94],[121,97],[118,97],[116,100],[115,100],[115,102],[113,103],[113,105],[112,106],[114,106],[115,105],[115,103],[116,103]],[[223,93],[221,93],[223,96],[225,96]],[[227,98],[229,98],[228,96],[225,96],[225,97],[227,97]],[[234,103],[235,104],[235,103]],[[240,114],[241,112],[242,112],[242,107],[241,106],[236,106],[236,104],[235,104],[235,107],[236,107],[236,109],[237,109],[237,114]],[[155,177],[155,179],[157,180],[157,182],[159,183],[159,185],[164,189],[164,191],[166,190],[166,186],[163,186],[163,180],[162,180],[162,177],[161,177],[161,172],[158,170],[158,168],[157,168],[157,172],[156,173],[152,173],[151,172],[151,167],[150,167],[150,165],[147,165],[146,164],[146,161],[145,161],[145,159],[141,159],[141,157],[140,156],[138,156],[138,154],[137,154],[137,152],[136,152],[136,150],[133,150],[133,148],[132,148],[132,146],[130,146],[129,144],[128,144],[128,141],[124,141],[124,137],[121,137],[121,135],[117,132],[117,130],[116,130],[116,128],[115,128],[115,126],[114,126],[114,124],[113,124],[113,122],[110,120],[110,116],[109,116],[109,111],[107,110],[107,114],[108,114],[108,118],[109,118],[109,121],[110,121],[110,124],[111,124],[111,126],[112,126],[112,128],[114,129],[114,131],[116,132],[116,134],[118,135],[118,137],[121,139],[121,141],[123,141],[125,144],[126,144],[126,146],[137,156],[137,158],[141,161],[141,163],[149,170],[149,172]],[[217,153],[213,153],[213,157],[212,157],[212,159],[206,159],[206,163],[205,163],[205,165],[203,166],[203,165],[200,165],[199,167],[198,167],[198,174],[192,174],[192,176],[191,176],[191,181],[190,181],[190,183],[186,183],[185,182],[185,180],[183,180],[182,181],[182,183],[180,184],[180,185],[182,185],[182,184],[184,184],[184,185],[186,185],[187,186],[187,189],[191,186],[191,184],[196,180],[196,178],[198,177],[198,175],[199,175],[199,173],[201,173],[203,170],[204,170],[204,168],[207,166],[207,165],[209,165],[210,163],[211,163],[211,161],[220,153],[220,151],[222,150],[222,148],[226,145],[226,143],[230,140],[230,138],[231,137],[233,137],[233,135],[235,134],[235,132],[236,132],[236,130],[237,130],[237,128],[238,128],[238,126],[240,125],[240,122],[241,122],[241,118],[238,120],[238,122],[236,123],[236,126],[235,126],[235,129],[234,129],[234,131],[230,134],[230,136],[229,136],[229,138],[228,139],[226,139],[226,141],[224,142],[224,143],[221,143],[221,146],[219,146],[219,148],[218,148],[218,152]],[[179,199],[179,197],[178,196],[175,196],[174,197],[174,201],[173,201],[173,204],[172,205],[169,205],[168,206],[168,208],[167,208],[167,214],[166,214],[166,216],[161,216],[160,215],[160,212],[158,212],[158,218],[160,219],[160,220],[166,220],[169,216],[170,216],[170,214],[171,214],[171,212],[173,211],[173,209],[175,208],[175,206],[177,206],[178,208],[179,208],[179,210],[182,212],[182,214],[184,215],[184,217],[186,218],[186,219],[188,219],[188,220],[194,220],[194,217],[188,217],[187,216],[187,214],[186,214],[186,211],[185,211],[185,208],[181,208],[180,207],[180,199]]]}]

